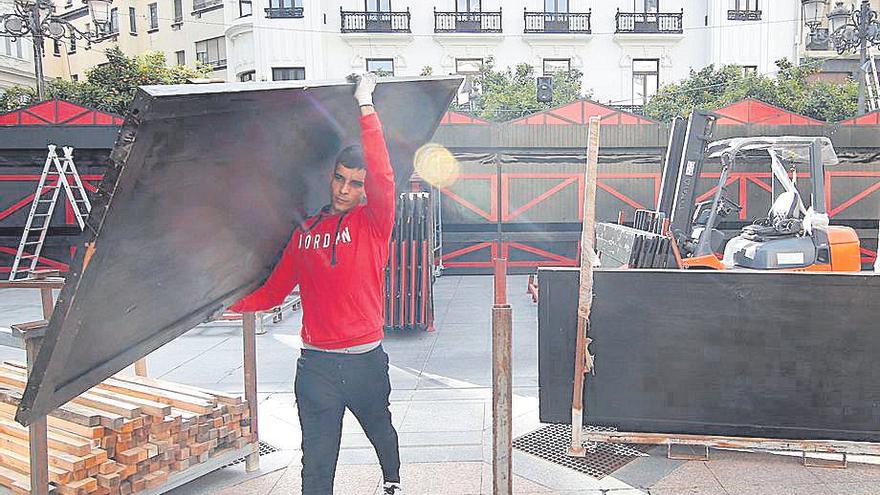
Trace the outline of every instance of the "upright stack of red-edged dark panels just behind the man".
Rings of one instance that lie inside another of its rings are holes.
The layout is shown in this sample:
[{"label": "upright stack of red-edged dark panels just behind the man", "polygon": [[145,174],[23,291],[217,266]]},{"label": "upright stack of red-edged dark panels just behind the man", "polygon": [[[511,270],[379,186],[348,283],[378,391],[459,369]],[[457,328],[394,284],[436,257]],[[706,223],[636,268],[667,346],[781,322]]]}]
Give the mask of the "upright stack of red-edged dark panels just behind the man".
[{"label": "upright stack of red-edged dark panels just behind the man", "polygon": [[385,330],[434,327],[434,219],[429,193],[403,193],[385,268]]}]

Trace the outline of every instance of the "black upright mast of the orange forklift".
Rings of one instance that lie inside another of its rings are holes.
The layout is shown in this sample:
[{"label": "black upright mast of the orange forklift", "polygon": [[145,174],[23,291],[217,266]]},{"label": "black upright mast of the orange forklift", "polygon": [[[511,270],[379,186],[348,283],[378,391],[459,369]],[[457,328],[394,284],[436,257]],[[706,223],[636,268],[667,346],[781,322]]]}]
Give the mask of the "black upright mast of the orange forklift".
[{"label": "black upright mast of the orange forklift", "polygon": [[[680,138],[681,124],[678,119],[672,127],[672,135],[669,139],[670,149],[667,150],[667,160],[664,164],[658,206],[670,208],[669,211],[661,211],[667,214],[669,230],[675,235],[676,241],[680,245],[690,239],[693,231],[696,185],[706,161],[706,148],[712,139],[716,119],[711,112],[694,110],[691,112],[683,139]],[[676,136],[677,132],[679,136]],[[681,147],[678,147],[678,140],[683,142]],[[677,163],[672,161],[677,158],[676,151],[681,157]],[[671,198],[671,206],[669,206],[669,197],[666,194],[671,189],[670,183],[675,184],[675,194]]]}]

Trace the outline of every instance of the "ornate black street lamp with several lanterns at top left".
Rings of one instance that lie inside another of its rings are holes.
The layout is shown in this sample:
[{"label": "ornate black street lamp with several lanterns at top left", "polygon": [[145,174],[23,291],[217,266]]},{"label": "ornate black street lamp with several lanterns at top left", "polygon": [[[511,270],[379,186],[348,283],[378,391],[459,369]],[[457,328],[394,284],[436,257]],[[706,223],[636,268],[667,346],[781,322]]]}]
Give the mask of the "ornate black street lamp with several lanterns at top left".
[{"label": "ornate black street lamp with several lanterns at top left", "polygon": [[37,96],[44,98],[43,40],[51,38],[85,40],[87,46],[100,43],[109,33],[110,4],[113,0],[83,0],[95,24],[95,30],[81,30],[68,21],[52,14],[50,0],[15,0],[14,11],[0,15],[0,36],[15,40],[29,36],[34,44],[34,76],[37,78]]}]

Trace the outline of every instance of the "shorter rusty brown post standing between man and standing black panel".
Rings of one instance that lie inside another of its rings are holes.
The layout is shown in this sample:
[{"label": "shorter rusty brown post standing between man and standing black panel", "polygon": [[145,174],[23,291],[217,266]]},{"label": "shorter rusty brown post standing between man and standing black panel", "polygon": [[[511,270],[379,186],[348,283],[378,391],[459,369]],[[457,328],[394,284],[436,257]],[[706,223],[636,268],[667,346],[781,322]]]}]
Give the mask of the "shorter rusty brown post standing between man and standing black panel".
[{"label": "shorter rusty brown post standing between man and standing black panel", "polygon": [[513,315],[507,304],[507,260],[495,259],[492,306],[492,493],[513,493]]}]

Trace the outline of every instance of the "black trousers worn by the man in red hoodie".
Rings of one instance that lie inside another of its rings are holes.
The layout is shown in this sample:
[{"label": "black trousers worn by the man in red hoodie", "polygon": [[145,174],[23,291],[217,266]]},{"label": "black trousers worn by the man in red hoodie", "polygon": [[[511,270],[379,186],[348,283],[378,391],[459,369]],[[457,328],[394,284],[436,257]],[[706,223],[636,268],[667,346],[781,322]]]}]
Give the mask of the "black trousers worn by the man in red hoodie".
[{"label": "black trousers worn by the man in red hoodie", "polygon": [[376,449],[385,481],[400,481],[397,432],[388,409],[388,355],[382,346],[364,354],[303,349],[294,389],[302,426],[303,495],[333,493],[346,407]]}]

